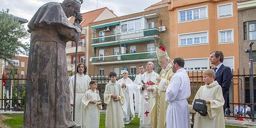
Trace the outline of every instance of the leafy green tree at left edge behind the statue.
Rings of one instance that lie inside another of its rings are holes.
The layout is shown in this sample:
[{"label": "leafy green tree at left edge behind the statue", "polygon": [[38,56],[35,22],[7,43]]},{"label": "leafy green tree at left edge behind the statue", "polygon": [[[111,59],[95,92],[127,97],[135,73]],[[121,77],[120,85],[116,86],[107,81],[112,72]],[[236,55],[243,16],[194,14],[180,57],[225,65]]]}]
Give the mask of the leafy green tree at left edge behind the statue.
[{"label": "leafy green tree at left edge behind the statue", "polygon": [[20,53],[27,55],[29,44],[22,43],[22,39],[28,38],[28,32],[18,20],[14,20],[9,9],[0,12],[0,59],[12,65],[13,57]]}]

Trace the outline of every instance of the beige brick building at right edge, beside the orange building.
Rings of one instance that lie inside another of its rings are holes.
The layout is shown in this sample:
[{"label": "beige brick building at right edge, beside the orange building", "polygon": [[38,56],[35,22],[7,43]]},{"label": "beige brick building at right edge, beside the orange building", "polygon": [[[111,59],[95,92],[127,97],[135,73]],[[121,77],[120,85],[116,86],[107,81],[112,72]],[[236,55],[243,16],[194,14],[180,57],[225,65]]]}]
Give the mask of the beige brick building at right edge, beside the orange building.
[{"label": "beige brick building at right edge, beside the orange building", "polygon": [[[249,54],[246,50],[250,49],[250,42],[254,42],[252,45],[252,63],[253,74],[256,69],[256,0],[237,0],[238,8],[238,38],[239,38],[239,73],[250,74]],[[246,49],[246,50],[245,50]],[[253,78],[255,81],[255,78]],[[250,77],[246,76],[243,79],[245,86],[242,88],[245,93],[245,102],[250,102]],[[254,99],[256,99],[256,84],[254,83]]]}]

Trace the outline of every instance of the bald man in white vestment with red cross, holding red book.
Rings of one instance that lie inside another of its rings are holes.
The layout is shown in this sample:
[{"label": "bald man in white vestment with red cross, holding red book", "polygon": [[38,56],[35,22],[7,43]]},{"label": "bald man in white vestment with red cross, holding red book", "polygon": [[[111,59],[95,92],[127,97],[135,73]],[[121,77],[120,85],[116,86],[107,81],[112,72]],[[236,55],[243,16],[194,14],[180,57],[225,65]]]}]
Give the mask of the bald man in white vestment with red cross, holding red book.
[{"label": "bald man in white vestment with red cross, holding red book", "polygon": [[[153,94],[150,93],[150,88],[154,87],[154,84],[157,82],[158,74],[153,71],[154,63],[148,62],[146,66],[146,73],[141,75],[142,82],[139,83],[138,89],[140,91],[140,107],[139,107],[139,115],[140,118],[140,128],[152,128],[151,122],[151,110],[154,105],[154,97]],[[148,102],[145,99],[145,96],[148,95]]]}]

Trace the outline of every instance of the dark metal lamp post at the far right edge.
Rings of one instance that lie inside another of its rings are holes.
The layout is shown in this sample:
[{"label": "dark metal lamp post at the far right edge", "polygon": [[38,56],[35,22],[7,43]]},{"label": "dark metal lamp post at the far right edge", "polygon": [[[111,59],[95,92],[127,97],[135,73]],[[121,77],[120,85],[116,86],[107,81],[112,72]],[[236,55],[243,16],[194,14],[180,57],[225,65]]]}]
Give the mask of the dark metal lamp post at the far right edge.
[{"label": "dark metal lamp post at the far right edge", "polygon": [[[244,49],[244,52],[248,53],[250,52],[250,86],[251,86],[251,103],[254,104],[254,88],[253,88],[253,67],[252,67],[252,44],[254,42],[250,42],[249,47],[250,49]],[[252,105],[252,118],[254,117],[254,105]],[[252,119],[254,122],[254,119]]]}]

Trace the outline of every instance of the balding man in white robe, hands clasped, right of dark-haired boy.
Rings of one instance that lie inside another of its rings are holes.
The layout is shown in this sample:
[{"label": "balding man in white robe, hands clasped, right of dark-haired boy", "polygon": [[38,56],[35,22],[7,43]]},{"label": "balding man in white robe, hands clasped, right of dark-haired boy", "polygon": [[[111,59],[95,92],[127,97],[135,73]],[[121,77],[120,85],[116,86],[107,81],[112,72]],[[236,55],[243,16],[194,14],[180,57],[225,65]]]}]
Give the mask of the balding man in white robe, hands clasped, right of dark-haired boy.
[{"label": "balding man in white robe, hands clasped, right of dark-haired boy", "polygon": [[133,118],[135,117],[134,114],[134,107],[133,107],[133,92],[134,92],[134,85],[130,78],[128,78],[129,72],[123,72],[123,78],[119,79],[117,82],[121,84],[123,93],[124,93],[124,105],[123,108],[123,115],[124,115],[124,124],[129,124]]}]

